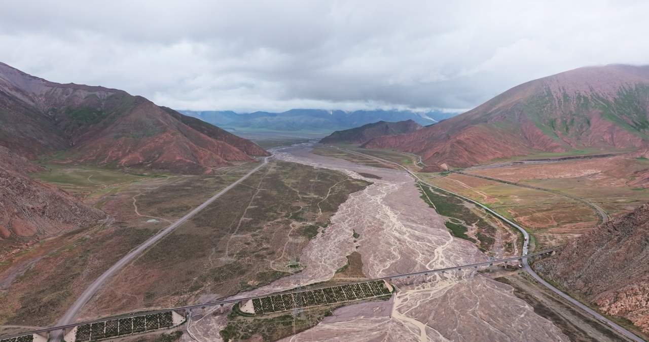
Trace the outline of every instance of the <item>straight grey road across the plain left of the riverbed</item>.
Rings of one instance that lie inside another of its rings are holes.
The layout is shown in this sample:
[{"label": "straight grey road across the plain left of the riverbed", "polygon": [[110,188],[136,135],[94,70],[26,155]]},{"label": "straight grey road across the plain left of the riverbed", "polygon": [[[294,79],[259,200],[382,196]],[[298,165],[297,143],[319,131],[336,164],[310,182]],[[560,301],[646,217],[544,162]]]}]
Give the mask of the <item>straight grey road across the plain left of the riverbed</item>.
[{"label": "straight grey road across the plain left of the riverbed", "polygon": [[[115,275],[119,269],[124,267],[127,263],[129,263],[133,258],[138,256],[143,250],[147,249],[148,247],[151,247],[154,243],[156,243],[158,240],[164,238],[167,234],[169,234],[172,230],[177,228],[177,226],[182,225],[185,221],[193,217],[193,215],[196,215],[198,212],[203,210],[206,206],[210,205],[210,203],[214,202],[215,199],[221,197],[224,193],[227,193],[230,189],[234,188],[239,184],[240,182],[243,182],[246,178],[250,177],[253,173],[257,172],[260,168],[262,168],[263,165],[268,163],[268,158],[271,158],[271,156],[267,156],[263,158],[263,163],[252,169],[249,173],[246,173],[243,177],[239,178],[236,180],[236,182],[230,184],[227,186],[225,189],[219,191],[216,195],[210,197],[207,201],[203,202],[200,206],[197,206],[194,208],[194,210],[191,210],[188,214],[184,215],[171,225],[167,226],[166,228],[160,230],[157,234],[152,236],[151,238],[147,239],[147,241],[144,241],[141,245],[136,247],[135,249],[131,250],[129,254],[126,254],[123,256],[118,262],[116,262],[114,265],[112,265],[108,270],[106,270],[97,280],[95,280],[90,286],[86,288],[83,293],[77,298],[77,300],[70,306],[69,309],[67,309],[66,313],[61,317],[61,319],[58,320],[57,325],[66,325],[71,323],[71,321],[75,318],[79,310],[90,300],[90,298],[97,293],[97,290],[99,290],[99,287],[101,287],[106,280],[108,280],[111,276]],[[63,276],[63,275],[62,275]],[[49,341],[53,342],[58,342],[61,340],[62,337],[62,330],[59,330],[58,332],[53,332]]]}]

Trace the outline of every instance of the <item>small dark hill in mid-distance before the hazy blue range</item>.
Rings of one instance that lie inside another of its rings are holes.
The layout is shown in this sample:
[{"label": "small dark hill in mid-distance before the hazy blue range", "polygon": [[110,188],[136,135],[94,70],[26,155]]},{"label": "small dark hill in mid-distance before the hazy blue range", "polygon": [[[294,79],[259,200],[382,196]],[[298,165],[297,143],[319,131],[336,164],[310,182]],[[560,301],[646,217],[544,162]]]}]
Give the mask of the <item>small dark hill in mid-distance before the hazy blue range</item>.
[{"label": "small dark hill in mid-distance before the hazy blue range", "polygon": [[412,120],[398,122],[378,121],[377,123],[368,123],[361,127],[336,130],[336,132],[333,132],[329,136],[321,139],[320,142],[361,144],[379,136],[410,133],[415,132],[415,130],[420,130],[421,128],[424,127]]}]

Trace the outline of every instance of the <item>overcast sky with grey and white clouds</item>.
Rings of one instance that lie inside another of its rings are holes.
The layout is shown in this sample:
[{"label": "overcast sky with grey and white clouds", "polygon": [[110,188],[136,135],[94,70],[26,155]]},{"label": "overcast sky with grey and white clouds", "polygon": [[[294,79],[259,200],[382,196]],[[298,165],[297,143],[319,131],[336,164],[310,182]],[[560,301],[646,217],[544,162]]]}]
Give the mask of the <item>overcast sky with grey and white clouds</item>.
[{"label": "overcast sky with grey and white clouds", "polygon": [[580,66],[649,64],[648,14],[649,1],[16,0],[0,61],[176,109],[461,110]]}]

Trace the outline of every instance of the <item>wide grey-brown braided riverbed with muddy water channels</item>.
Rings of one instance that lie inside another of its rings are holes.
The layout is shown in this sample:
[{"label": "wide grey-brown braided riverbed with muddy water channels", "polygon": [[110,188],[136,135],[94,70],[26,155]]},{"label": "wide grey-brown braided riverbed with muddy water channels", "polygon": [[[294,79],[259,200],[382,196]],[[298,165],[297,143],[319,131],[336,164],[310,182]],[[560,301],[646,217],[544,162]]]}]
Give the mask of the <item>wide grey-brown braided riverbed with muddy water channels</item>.
[{"label": "wide grey-brown braided riverbed with muddy water channels", "polygon": [[[306,269],[238,296],[322,282],[360,252],[369,278],[486,261],[474,245],[453,238],[442,217],[419,198],[405,171],[369,167],[310,153],[308,143],[273,151],[287,162],[333,169],[373,182],[352,193],[331,224],[303,250]],[[365,178],[359,173],[380,177]],[[352,234],[360,237],[356,242]],[[397,281],[386,302],[352,304],[285,341],[568,341],[561,330],[513,295],[511,287],[473,270]],[[199,341],[219,341],[223,315],[191,323]],[[191,341],[190,336],[183,340]]]}]

